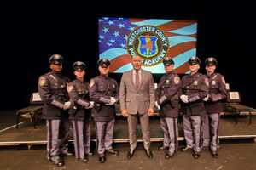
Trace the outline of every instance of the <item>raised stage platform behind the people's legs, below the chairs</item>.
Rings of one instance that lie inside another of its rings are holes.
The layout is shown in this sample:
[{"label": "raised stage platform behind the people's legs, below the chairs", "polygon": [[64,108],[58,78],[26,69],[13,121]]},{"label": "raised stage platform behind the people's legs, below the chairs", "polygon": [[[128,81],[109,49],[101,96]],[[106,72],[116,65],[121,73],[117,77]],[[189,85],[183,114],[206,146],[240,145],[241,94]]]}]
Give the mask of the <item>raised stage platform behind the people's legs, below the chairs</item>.
[{"label": "raised stage platform behind the people's legs, below the chairs", "polygon": [[[95,139],[94,122],[91,122],[92,141]],[[179,138],[183,140],[183,125],[179,121]],[[160,142],[163,140],[163,133],[160,129],[159,117],[151,117],[150,119],[151,141]],[[72,130],[70,131],[70,140],[72,141]],[[236,124],[233,117],[225,116],[220,119],[219,139],[256,139],[256,116],[252,116],[252,123],[249,124],[246,116],[238,118]],[[140,126],[137,126],[137,141],[142,142],[142,133]],[[119,118],[114,127],[114,142],[126,143],[128,139],[127,121]],[[0,133],[0,145],[18,145],[18,144],[46,144],[46,127],[45,122],[38,123],[37,128],[33,128],[32,122],[24,122],[20,124],[20,128],[15,127]]]}]

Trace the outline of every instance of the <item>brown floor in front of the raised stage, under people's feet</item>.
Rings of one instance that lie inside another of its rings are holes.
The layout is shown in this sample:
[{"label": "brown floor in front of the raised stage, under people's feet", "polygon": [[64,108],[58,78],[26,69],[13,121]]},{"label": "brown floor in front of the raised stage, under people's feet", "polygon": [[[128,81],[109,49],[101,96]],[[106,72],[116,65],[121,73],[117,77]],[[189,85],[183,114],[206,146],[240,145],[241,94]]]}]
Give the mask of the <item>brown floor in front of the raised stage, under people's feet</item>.
[{"label": "brown floor in front of the raised stage, under people's feet", "polygon": [[153,159],[148,159],[142,149],[137,149],[131,160],[127,160],[126,148],[119,149],[119,156],[107,156],[104,164],[98,162],[98,157],[90,156],[88,163],[76,161],[74,156],[65,157],[65,166],[57,168],[46,159],[46,150],[0,150],[0,169],[9,170],[58,170],[58,169],[96,169],[96,170],[255,170],[254,143],[221,144],[218,159],[212,158],[208,150],[201,152],[201,157],[195,160],[190,152],[178,151],[169,160],[164,158],[162,150],[152,148]]}]

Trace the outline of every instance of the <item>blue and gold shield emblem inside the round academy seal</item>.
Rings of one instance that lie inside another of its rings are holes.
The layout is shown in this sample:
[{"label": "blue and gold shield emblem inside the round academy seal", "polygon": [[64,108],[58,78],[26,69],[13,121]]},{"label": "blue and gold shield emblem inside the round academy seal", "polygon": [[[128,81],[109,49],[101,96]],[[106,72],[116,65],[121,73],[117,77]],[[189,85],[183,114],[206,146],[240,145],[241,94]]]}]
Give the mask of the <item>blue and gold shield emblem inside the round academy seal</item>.
[{"label": "blue and gold shield emblem inside the round academy seal", "polygon": [[138,38],[137,53],[145,58],[158,54],[157,37],[142,35]]}]

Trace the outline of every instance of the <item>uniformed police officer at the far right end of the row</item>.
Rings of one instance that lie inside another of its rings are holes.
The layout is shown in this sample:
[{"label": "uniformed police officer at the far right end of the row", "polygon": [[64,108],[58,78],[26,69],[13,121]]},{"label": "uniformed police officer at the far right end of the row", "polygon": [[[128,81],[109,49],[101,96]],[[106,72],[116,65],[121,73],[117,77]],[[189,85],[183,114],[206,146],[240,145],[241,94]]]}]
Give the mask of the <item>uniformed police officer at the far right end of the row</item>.
[{"label": "uniformed police officer at the far right end of the row", "polygon": [[203,119],[203,144],[210,146],[212,156],[218,157],[218,123],[219,113],[224,110],[224,100],[227,97],[224,76],[215,72],[217,60],[206,59],[207,77],[209,79],[209,93],[206,101],[207,115]]}]

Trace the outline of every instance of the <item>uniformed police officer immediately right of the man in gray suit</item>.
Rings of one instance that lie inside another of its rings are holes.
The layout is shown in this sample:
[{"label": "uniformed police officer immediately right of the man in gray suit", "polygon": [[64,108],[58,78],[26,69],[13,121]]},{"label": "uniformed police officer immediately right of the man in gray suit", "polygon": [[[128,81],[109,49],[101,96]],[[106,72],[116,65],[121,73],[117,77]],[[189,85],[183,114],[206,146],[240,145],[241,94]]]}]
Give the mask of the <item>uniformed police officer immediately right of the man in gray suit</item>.
[{"label": "uniformed police officer immediately right of the man in gray suit", "polygon": [[169,159],[177,152],[177,116],[179,111],[178,92],[181,81],[173,71],[174,61],[171,57],[163,60],[166,75],[161,77],[155,90],[155,105],[160,109],[160,127],[164,132],[165,158]]}]

